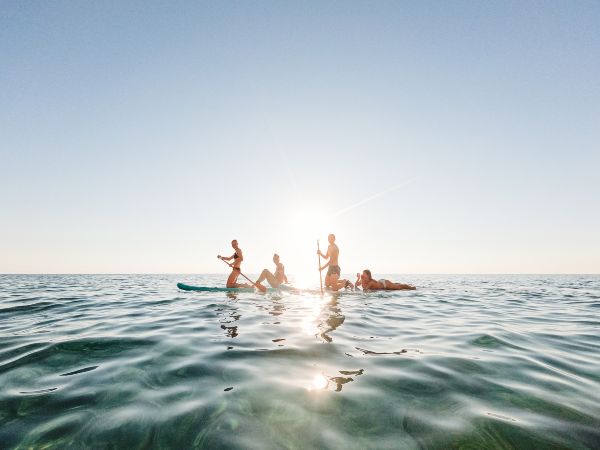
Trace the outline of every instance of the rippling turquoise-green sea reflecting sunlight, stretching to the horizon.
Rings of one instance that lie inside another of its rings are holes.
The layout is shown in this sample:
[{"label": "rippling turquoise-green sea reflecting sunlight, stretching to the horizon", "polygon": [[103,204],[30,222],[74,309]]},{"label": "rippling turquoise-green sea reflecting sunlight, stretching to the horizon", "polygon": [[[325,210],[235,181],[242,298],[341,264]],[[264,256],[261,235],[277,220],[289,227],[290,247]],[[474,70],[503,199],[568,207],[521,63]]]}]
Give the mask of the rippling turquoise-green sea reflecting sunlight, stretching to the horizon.
[{"label": "rippling turquoise-green sea reflecting sunlight, stretching to the horizon", "polygon": [[600,448],[600,277],[0,276],[1,448]]}]

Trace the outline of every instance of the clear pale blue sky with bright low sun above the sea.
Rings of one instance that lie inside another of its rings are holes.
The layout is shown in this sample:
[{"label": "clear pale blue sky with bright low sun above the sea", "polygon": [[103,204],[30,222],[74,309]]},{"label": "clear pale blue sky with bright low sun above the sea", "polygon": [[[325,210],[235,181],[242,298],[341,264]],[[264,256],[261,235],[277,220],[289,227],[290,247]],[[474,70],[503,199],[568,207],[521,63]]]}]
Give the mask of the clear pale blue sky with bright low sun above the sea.
[{"label": "clear pale blue sky with bright low sun above the sea", "polygon": [[308,277],[333,231],[344,272],[598,273],[599,24],[597,1],[4,0],[0,272],[219,272],[237,238],[248,272],[277,251]]}]

